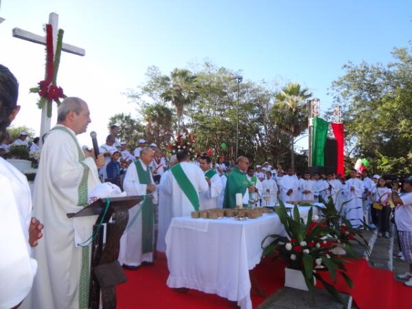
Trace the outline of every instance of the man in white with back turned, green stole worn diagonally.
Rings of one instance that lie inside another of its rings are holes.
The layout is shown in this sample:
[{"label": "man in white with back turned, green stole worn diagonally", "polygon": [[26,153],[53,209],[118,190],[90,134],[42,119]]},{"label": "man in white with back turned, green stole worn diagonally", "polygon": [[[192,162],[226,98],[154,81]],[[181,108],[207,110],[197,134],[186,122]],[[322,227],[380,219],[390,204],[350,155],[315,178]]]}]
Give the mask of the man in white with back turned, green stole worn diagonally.
[{"label": "man in white with back turned, green stole worn diagonally", "polygon": [[209,190],[205,173],[193,163],[185,151],[176,155],[179,164],[170,169],[165,190],[172,195],[173,217],[190,216],[199,207],[199,194]]}]

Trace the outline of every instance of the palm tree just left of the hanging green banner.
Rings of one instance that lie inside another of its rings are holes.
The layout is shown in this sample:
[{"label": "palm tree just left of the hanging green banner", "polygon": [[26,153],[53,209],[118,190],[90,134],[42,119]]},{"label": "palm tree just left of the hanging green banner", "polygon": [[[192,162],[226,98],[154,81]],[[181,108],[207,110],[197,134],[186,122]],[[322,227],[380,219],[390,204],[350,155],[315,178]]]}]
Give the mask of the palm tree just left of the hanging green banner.
[{"label": "palm tree just left of the hanging green banner", "polygon": [[301,85],[291,82],[275,95],[271,110],[273,123],[290,135],[290,164],[295,168],[295,138],[308,127],[308,108],[305,102],[312,93],[301,89]]}]

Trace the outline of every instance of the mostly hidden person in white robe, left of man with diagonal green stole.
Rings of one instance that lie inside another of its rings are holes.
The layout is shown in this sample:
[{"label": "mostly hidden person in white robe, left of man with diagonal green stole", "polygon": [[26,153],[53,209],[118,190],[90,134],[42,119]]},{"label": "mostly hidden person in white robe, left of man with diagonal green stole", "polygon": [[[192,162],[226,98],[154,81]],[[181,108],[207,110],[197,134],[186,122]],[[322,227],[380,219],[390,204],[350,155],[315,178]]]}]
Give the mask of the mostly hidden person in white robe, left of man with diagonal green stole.
[{"label": "mostly hidden person in white robe, left of man with diagonal green stole", "polygon": [[[170,167],[172,168],[177,163],[176,155],[170,157]],[[170,177],[170,170],[165,171],[161,176],[160,183],[157,186],[159,194],[159,229],[157,234],[157,251],[166,252],[166,232],[169,229],[170,221],[172,220],[172,195],[165,190],[166,180]]]}]

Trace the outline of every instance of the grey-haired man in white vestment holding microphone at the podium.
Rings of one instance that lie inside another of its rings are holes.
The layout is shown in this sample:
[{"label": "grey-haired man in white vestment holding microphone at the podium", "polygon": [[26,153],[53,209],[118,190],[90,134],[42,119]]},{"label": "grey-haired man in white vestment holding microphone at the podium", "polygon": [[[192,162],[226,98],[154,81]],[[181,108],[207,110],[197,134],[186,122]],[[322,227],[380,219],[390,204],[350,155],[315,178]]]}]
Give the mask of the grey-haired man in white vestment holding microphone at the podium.
[{"label": "grey-haired man in white vestment holding microphone at the podium", "polygon": [[[89,192],[100,185],[102,154],[82,150],[76,135],[91,122],[80,98],[66,98],[58,107],[58,124],[47,133],[34,181],[34,215],[45,225],[44,240],[34,249],[38,275],[32,289],[32,308],[87,308],[90,246],[77,247],[75,225],[89,229],[97,216],[67,218],[87,205]],[[77,223],[76,223],[77,222]],[[86,240],[86,239],[85,239]]]}]

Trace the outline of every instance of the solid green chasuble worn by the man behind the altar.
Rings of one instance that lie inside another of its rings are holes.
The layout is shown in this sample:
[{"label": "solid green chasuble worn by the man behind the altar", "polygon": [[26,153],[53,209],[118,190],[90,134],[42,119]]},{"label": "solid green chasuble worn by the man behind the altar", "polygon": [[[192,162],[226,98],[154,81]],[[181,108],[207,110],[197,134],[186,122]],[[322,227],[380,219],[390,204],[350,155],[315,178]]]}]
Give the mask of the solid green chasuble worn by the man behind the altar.
[{"label": "solid green chasuble worn by the man behind the altar", "polygon": [[223,208],[236,208],[236,193],[241,193],[244,196],[250,185],[251,183],[247,180],[246,173],[240,171],[237,167],[233,168],[229,176],[227,176]]}]

